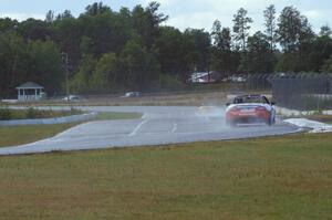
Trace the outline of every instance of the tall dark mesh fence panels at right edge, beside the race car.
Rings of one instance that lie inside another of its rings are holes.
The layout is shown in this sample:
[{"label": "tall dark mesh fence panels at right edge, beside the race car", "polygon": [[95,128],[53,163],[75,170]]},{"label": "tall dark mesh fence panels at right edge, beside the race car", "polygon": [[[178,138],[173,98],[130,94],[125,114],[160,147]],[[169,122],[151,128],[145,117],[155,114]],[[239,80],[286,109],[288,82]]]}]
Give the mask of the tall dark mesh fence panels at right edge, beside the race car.
[{"label": "tall dark mesh fence panels at right edge, beside the race car", "polygon": [[281,107],[299,111],[332,109],[332,74],[277,74],[272,96]]}]

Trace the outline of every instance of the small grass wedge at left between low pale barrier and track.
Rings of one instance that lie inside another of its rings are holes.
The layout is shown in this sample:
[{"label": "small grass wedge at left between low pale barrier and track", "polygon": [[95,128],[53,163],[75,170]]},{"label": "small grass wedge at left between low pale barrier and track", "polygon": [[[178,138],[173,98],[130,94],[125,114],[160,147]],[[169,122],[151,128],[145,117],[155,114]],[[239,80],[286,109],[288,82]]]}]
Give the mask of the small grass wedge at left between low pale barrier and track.
[{"label": "small grass wedge at left between low pale barrier and track", "polygon": [[[0,147],[22,145],[52,137],[79,123],[0,126]],[[1,216],[1,214],[0,214]]]}]

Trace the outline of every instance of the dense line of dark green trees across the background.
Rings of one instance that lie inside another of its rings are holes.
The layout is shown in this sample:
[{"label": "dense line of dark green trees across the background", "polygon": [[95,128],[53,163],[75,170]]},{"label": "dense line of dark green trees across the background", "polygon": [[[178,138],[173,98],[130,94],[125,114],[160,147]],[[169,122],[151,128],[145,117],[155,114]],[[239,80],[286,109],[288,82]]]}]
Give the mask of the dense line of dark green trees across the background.
[{"label": "dense line of dark green trees across the background", "polygon": [[181,86],[194,71],[224,75],[332,71],[329,25],[314,33],[294,7],[277,15],[262,12],[264,30],[250,34],[255,22],[246,9],[234,27],[216,20],[212,29],[180,31],[163,23],[159,3],[113,11],[102,2],[74,18],[69,10],[44,20],[0,19],[0,96],[12,96],[25,81],[44,85],[49,95],[64,91],[64,54],[72,93],[158,91]]}]

